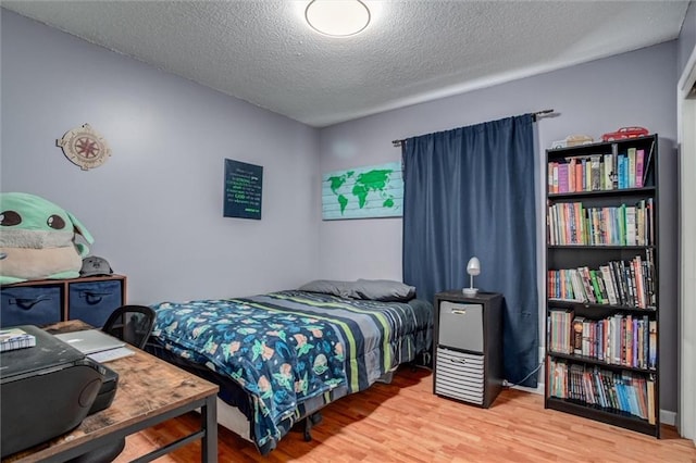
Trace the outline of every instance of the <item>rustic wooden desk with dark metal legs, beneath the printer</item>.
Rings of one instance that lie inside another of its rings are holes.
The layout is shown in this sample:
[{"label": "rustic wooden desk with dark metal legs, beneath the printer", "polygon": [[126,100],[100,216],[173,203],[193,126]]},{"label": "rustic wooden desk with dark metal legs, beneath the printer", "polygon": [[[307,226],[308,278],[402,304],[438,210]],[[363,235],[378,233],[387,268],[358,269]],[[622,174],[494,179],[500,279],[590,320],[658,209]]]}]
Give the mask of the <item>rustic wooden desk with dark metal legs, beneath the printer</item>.
[{"label": "rustic wooden desk with dark metal legs, beneath the printer", "polygon": [[[86,328],[90,326],[79,321],[61,322],[45,327],[53,334]],[[2,463],[64,462],[199,408],[201,414],[199,430],[135,461],[149,462],[178,447],[202,439],[201,462],[216,462],[217,386],[145,351],[130,348],[136,351],[135,355],[107,364],[119,373],[119,387],[110,408],[87,416],[71,433],[9,455],[2,460]],[[2,425],[8,426],[8,423]]]}]

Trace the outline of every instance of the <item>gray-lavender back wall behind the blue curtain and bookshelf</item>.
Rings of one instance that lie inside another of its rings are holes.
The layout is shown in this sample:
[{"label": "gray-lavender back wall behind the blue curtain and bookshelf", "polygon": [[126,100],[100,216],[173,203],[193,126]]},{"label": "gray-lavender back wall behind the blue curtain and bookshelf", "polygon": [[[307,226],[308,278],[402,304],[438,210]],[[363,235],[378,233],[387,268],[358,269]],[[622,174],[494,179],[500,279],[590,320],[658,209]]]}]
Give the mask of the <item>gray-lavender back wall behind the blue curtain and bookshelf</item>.
[{"label": "gray-lavender back wall behind the blue curtain and bookshelf", "polygon": [[[321,133],[321,171],[400,159],[391,140],[555,109],[537,124],[539,260],[543,259],[545,171],[552,140],[642,125],[660,136],[660,406],[676,410],[676,42],[540,74],[461,96],[395,110]],[[331,278],[401,278],[401,220],[322,222],[320,275]],[[462,265],[465,265],[462,258]],[[542,268],[545,265],[542,263]],[[483,268],[483,272],[495,272]],[[539,278],[543,293],[543,277]],[[533,289],[533,288],[530,288]],[[543,299],[540,299],[543,300]],[[543,324],[543,313],[539,314]],[[544,333],[540,329],[539,333]]]}]

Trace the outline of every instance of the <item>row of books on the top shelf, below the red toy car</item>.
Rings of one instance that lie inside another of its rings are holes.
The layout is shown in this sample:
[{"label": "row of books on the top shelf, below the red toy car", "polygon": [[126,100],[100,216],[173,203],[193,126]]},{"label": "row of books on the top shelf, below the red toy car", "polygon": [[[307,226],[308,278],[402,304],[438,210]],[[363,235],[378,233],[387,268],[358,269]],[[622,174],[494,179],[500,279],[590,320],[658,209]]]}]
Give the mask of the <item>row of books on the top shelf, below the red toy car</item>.
[{"label": "row of books on the top shelf, below the red toy car", "polygon": [[589,154],[548,163],[549,193],[643,188],[649,155],[643,148],[625,153]]}]

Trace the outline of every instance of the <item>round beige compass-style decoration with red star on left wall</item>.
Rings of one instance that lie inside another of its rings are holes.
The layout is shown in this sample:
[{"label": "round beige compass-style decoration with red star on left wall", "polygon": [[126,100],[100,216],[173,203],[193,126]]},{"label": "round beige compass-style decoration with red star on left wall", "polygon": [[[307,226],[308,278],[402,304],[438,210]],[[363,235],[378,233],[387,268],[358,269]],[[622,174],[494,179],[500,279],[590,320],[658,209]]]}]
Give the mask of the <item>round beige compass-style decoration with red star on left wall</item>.
[{"label": "round beige compass-style decoration with red star on left wall", "polygon": [[55,145],[63,149],[65,158],[83,171],[99,167],[111,155],[107,140],[89,124],[66,132],[63,138],[55,140]]}]

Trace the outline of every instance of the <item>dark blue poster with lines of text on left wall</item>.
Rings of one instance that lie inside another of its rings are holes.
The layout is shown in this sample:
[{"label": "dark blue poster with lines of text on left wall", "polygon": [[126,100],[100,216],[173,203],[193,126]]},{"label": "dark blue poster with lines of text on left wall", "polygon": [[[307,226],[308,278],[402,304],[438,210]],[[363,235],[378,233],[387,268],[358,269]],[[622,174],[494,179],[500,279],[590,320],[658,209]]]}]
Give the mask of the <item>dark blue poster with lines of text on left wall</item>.
[{"label": "dark blue poster with lines of text on left wall", "polygon": [[261,220],[263,167],[225,159],[225,217]]}]

